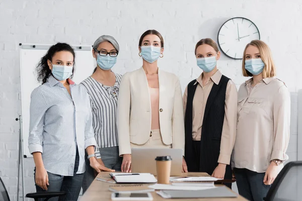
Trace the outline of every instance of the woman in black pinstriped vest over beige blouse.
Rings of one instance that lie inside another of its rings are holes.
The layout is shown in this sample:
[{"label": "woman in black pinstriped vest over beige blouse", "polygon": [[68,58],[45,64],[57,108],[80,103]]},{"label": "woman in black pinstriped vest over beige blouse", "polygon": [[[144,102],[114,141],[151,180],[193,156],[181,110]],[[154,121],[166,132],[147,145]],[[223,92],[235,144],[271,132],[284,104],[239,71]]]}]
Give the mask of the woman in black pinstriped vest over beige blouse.
[{"label": "woman in black pinstriped vest over beige blouse", "polygon": [[232,179],[237,88],[217,69],[220,51],[212,39],[201,39],[196,44],[195,56],[203,72],[188,84],[183,97],[188,171]]}]

